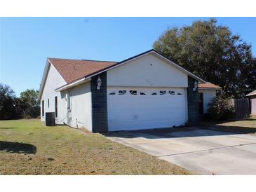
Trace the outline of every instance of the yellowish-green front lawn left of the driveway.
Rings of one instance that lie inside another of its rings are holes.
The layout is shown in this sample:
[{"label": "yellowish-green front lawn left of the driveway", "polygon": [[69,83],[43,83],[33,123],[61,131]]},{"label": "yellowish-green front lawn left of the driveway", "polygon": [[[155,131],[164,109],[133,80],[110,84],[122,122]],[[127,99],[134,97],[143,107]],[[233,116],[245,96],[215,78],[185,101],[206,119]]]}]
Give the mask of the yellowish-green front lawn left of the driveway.
[{"label": "yellowish-green front lawn left of the driveway", "polygon": [[0,174],[193,174],[106,139],[39,120],[0,121]]}]

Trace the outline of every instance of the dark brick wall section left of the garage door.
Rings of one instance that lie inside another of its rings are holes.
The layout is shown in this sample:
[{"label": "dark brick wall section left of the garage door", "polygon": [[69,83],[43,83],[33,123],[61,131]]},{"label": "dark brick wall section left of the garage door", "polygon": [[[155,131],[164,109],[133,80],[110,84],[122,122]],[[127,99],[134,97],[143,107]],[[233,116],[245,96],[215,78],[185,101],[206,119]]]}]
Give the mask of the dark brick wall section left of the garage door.
[{"label": "dark brick wall section left of the garage door", "polygon": [[[97,78],[100,76],[102,85],[97,90]],[[90,81],[92,94],[93,132],[108,132],[107,123],[107,72],[93,76]]]}]

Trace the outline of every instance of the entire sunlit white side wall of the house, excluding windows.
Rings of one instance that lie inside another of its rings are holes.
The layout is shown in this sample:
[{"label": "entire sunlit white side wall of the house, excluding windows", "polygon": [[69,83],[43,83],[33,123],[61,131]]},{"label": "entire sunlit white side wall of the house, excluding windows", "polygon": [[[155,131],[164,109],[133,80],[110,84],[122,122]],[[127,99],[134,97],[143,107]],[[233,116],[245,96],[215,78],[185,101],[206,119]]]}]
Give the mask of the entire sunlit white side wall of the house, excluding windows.
[{"label": "entire sunlit white side wall of the house, excluding windows", "polygon": [[[58,71],[50,65],[46,83],[43,89],[41,101],[44,101],[44,113],[55,112],[55,96],[58,97],[58,117],[55,118],[56,124],[67,124],[73,128],[86,128],[92,131],[91,118],[91,92],[90,82],[83,83],[75,88],[56,92],[55,89],[66,82]],[[67,111],[67,93],[70,95],[70,109]],[[49,107],[48,107],[49,99]],[[41,106],[42,107],[42,106]],[[41,109],[42,113],[42,109]],[[41,121],[45,121],[45,116],[41,114]]]}]

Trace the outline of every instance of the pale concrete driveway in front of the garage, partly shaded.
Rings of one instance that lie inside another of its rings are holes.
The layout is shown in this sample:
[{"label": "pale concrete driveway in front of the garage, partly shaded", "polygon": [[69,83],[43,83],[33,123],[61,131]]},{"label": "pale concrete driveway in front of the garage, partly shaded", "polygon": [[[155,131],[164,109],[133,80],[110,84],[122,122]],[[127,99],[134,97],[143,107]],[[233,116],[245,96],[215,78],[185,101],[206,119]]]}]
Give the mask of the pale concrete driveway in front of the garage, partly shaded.
[{"label": "pale concrete driveway in front of the garage, partly shaded", "polygon": [[175,128],[112,132],[107,137],[198,174],[256,174],[256,135]]}]

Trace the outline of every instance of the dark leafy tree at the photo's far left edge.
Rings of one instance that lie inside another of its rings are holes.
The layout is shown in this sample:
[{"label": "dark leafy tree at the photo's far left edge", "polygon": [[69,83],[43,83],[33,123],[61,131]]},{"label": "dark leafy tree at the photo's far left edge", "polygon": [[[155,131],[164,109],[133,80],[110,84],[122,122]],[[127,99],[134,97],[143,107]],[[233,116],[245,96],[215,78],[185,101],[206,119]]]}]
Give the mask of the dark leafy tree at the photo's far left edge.
[{"label": "dark leafy tree at the photo's far left edge", "polygon": [[8,85],[0,83],[0,119],[21,118],[22,104],[14,93]]}]

